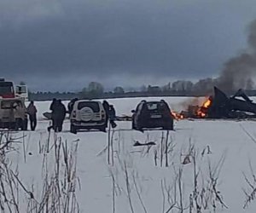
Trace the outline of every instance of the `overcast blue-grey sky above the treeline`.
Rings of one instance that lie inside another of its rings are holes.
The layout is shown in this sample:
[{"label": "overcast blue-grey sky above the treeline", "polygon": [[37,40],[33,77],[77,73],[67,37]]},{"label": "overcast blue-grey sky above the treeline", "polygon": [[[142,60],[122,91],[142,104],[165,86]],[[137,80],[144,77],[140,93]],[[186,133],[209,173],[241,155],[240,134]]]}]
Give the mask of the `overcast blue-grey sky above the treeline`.
[{"label": "overcast blue-grey sky above the treeline", "polygon": [[0,77],[79,90],[218,76],[255,0],[1,0]]}]

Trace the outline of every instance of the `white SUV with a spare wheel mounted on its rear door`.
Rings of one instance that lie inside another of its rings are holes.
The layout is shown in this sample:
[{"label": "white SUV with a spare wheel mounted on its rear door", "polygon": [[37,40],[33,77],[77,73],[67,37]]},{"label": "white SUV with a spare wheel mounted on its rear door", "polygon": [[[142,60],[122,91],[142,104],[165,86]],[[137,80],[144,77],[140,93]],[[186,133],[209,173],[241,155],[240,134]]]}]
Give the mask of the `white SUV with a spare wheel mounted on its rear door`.
[{"label": "white SUV with a spare wheel mounted on its rear door", "polygon": [[101,130],[106,132],[106,112],[100,101],[79,100],[73,104],[70,114],[70,132],[77,130]]}]

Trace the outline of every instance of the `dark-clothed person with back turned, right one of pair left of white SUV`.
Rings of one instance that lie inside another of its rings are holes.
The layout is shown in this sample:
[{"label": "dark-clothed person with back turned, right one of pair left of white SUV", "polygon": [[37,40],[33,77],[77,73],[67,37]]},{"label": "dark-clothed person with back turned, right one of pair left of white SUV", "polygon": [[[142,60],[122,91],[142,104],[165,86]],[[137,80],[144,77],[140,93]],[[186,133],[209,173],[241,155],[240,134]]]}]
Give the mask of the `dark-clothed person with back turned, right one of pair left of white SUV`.
[{"label": "dark-clothed person with back turned, right one of pair left of white SUV", "polygon": [[62,104],[61,100],[58,100],[55,105],[55,111],[53,112],[54,130],[55,132],[62,131],[62,125],[66,116],[66,107]]}]

